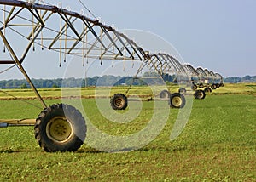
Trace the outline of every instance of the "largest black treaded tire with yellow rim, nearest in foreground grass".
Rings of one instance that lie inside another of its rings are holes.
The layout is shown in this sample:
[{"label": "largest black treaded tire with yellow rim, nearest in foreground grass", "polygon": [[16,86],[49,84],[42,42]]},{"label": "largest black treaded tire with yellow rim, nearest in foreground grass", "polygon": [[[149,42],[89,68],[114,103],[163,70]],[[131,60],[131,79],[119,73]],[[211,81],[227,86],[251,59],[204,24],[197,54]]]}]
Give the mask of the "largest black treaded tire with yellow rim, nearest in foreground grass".
[{"label": "largest black treaded tire with yellow rim, nearest in foreground grass", "polygon": [[44,151],[77,151],[84,144],[86,125],[76,108],[57,104],[39,114],[34,131]]}]

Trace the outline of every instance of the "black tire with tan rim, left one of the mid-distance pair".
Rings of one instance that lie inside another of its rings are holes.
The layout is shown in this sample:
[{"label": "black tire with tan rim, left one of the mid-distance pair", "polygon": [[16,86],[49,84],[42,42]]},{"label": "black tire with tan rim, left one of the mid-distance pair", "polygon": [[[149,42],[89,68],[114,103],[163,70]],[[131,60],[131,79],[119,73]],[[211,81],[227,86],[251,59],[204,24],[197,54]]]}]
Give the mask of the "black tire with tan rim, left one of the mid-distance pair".
[{"label": "black tire with tan rim, left one of the mid-distance pair", "polygon": [[128,106],[127,97],[124,94],[114,94],[110,99],[113,110],[125,110]]}]

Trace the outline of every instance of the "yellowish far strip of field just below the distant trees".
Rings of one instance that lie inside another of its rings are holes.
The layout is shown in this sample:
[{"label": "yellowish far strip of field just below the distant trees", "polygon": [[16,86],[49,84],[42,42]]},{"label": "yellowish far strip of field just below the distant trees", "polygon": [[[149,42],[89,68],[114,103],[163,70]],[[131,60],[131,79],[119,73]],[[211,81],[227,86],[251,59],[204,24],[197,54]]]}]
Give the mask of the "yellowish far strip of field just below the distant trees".
[{"label": "yellowish far strip of field just below the distant trees", "polygon": [[[178,85],[170,85],[168,88],[171,92],[177,92]],[[125,93],[128,87],[113,87],[110,90],[110,95],[114,93]],[[80,88],[79,88],[80,89]],[[165,87],[158,87],[159,92]],[[65,89],[68,92],[72,93],[73,90],[77,90],[77,88],[67,88]],[[39,88],[38,92],[44,97],[44,99],[55,99],[61,97],[61,88]],[[97,88],[81,88],[81,93],[84,98],[101,96],[106,96],[106,92],[109,92],[109,88],[97,87]],[[254,94],[256,93],[256,83],[240,83],[240,84],[231,84],[227,83],[224,85],[224,88],[220,88],[217,90],[213,90],[212,94]],[[150,95],[152,94],[150,89],[147,87],[139,87],[134,86],[131,88],[129,92],[130,95],[134,94],[143,94]],[[4,89],[0,90],[0,100],[3,99],[13,99],[13,95],[16,98],[21,99],[36,99],[35,94],[32,92],[32,89]],[[110,96],[108,93],[108,96]]]}]

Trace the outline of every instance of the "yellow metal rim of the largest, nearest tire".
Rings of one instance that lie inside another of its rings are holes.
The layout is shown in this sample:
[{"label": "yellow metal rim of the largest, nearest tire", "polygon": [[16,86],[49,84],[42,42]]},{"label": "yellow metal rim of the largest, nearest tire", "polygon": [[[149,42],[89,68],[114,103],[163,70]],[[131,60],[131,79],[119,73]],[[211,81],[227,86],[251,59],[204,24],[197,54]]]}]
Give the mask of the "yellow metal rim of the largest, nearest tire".
[{"label": "yellow metal rim of the largest, nearest tire", "polygon": [[73,127],[65,117],[54,117],[46,126],[49,139],[58,143],[66,142],[73,134]]}]

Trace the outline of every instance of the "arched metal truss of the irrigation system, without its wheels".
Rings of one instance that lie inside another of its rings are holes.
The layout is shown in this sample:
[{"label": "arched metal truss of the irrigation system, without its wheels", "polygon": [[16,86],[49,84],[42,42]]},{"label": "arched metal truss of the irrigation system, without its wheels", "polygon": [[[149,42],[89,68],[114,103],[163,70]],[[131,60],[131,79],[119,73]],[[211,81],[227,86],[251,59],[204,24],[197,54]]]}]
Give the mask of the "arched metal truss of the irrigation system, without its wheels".
[{"label": "arched metal truss of the irrigation system, without its wheels", "polygon": [[[149,53],[137,45],[124,33],[69,9],[62,9],[43,3],[27,3],[18,0],[0,0],[0,37],[4,48],[10,54],[10,60],[0,60],[0,65],[16,65],[26,77],[31,88],[45,108],[44,100],[38,94],[22,63],[30,49],[35,50],[35,44],[42,49],[58,52],[61,61],[66,61],[67,55],[75,55],[84,59],[98,60],[138,60],[142,62],[139,71],[145,66],[151,71],[163,74],[185,75],[201,79],[221,80],[221,75],[207,69],[193,68],[192,65],[181,64],[171,54]],[[11,43],[9,32],[15,32],[26,39],[26,48],[22,54],[15,53],[17,43]],[[5,49],[4,49],[5,50]],[[63,59],[64,58],[64,59]]]}]

